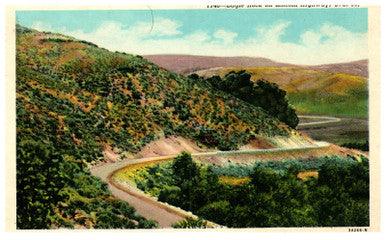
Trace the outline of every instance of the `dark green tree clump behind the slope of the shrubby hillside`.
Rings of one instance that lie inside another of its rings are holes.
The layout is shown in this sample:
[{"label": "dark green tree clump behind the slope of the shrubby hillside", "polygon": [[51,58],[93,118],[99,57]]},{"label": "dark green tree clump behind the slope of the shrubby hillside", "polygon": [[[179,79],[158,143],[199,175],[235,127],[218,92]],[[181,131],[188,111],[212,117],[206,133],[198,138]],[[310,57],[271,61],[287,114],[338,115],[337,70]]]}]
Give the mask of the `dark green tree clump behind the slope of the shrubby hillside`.
[{"label": "dark green tree clump behind the slope of the shrubby hillside", "polygon": [[[190,77],[194,80],[198,78],[197,75],[190,75]],[[263,79],[253,82],[251,74],[244,70],[231,71],[223,79],[213,76],[207,81],[217,89],[263,108],[269,115],[278,118],[291,128],[296,128],[299,123],[295,110],[288,104],[286,91],[280,89],[275,83]]]}]

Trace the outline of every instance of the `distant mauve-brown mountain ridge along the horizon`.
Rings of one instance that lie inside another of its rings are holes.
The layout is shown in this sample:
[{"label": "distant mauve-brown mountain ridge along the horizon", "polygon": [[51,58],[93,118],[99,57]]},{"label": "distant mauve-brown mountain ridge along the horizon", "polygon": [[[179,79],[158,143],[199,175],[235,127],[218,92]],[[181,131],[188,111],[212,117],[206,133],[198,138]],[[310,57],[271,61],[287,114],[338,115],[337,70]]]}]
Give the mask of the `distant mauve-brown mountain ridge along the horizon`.
[{"label": "distant mauve-brown mountain ridge along the horizon", "polygon": [[227,67],[283,67],[297,66],[305,69],[323,70],[333,73],[347,73],[362,77],[368,76],[368,60],[359,60],[348,63],[324,64],[305,66],[275,62],[268,58],[260,57],[213,57],[195,55],[145,55],[144,58],[176,73],[189,74],[191,72]]}]

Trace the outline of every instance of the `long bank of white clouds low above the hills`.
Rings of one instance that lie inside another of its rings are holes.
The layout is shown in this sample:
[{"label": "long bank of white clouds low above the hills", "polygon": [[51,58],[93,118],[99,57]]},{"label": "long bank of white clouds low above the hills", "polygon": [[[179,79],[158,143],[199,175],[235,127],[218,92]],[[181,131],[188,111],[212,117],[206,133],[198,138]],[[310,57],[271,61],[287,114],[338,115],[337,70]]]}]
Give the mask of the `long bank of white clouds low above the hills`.
[{"label": "long bank of white clouds low above the hills", "polygon": [[130,26],[120,22],[102,22],[92,32],[53,29],[43,22],[35,22],[38,30],[57,31],[78,39],[94,42],[112,51],[132,54],[193,54],[213,56],[266,57],[293,64],[324,64],[367,58],[367,33],[354,33],[325,23],[318,29],[305,29],[299,42],[285,42],[291,23],[279,21],[271,26],[256,28],[256,34],[237,39],[238,34],[224,28],[213,32],[197,29],[183,33],[182,24],[169,18],[151,22],[136,22]]}]

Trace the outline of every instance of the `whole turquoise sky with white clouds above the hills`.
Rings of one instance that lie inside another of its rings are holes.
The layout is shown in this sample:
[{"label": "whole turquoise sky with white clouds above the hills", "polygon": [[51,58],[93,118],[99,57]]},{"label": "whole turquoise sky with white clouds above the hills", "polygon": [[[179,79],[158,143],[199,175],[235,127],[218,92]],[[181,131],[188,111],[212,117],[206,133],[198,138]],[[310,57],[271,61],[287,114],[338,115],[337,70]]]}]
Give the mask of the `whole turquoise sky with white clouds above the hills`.
[{"label": "whole turquoise sky with white clouds above the hills", "polygon": [[368,57],[365,8],[18,11],[16,21],[139,55],[251,56],[305,65]]}]

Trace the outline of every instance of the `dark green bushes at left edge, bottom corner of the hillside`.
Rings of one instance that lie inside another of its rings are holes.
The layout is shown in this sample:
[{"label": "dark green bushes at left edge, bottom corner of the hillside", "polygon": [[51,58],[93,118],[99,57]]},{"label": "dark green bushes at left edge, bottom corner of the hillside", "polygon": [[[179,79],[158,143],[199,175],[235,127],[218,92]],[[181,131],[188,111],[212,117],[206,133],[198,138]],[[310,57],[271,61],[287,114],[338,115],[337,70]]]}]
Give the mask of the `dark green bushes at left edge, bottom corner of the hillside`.
[{"label": "dark green bushes at left edge, bottom corner of the hillside", "polygon": [[[46,159],[50,159],[47,162]],[[23,228],[46,228],[48,208],[60,198],[56,194],[65,177],[59,174],[61,157],[41,141],[18,138],[17,148],[17,224]]]}]

